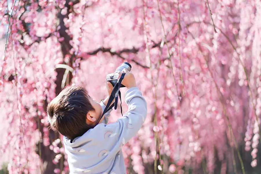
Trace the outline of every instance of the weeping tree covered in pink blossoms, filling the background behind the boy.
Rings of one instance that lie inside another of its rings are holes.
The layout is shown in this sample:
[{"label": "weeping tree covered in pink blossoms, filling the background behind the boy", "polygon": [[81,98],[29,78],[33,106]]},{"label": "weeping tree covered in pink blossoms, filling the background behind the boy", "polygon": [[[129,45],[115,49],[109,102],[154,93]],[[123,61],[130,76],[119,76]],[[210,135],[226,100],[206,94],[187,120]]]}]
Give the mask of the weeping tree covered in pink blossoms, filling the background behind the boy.
[{"label": "weeping tree covered in pink blossoms, filling the background behind the boy", "polygon": [[68,173],[48,102],[67,85],[104,99],[106,74],[127,61],[148,103],[123,147],[128,173],[253,171],[260,12],[258,0],[1,0],[0,162],[10,174]]}]

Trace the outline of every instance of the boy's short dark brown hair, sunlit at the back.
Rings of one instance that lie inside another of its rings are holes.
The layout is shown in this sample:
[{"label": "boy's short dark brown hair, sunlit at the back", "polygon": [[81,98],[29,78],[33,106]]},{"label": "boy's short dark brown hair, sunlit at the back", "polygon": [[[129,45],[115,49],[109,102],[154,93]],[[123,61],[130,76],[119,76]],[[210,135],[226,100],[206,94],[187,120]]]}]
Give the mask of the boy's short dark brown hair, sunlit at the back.
[{"label": "boy's short dark brown hair, sunlit at the back", "polygon": [[86,123],[87,113],[95,110],[89,98],[86,89],[80,86],[62,90],[47,106],[51,128],[71,141],[93,128],[94,125]]}]

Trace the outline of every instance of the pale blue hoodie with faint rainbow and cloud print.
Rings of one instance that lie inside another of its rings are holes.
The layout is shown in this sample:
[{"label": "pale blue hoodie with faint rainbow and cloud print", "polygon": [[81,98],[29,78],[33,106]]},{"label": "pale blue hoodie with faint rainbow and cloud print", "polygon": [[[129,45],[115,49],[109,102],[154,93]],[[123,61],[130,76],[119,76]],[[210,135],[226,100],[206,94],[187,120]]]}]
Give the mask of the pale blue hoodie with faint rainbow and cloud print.
[{"label": "pale blue hoodie with faint rainbow and cloud print", "polygon": [[[70,174],[125,174],[122,146],[142,127],[147,115],[146,100],[137,87],[125,93],[128,111],[117,122],[108,123],[110,111],[103,123],[70,142],[64,136],[65,152],[68,155]],[[105,105],[100,103],[104,110]]]}]

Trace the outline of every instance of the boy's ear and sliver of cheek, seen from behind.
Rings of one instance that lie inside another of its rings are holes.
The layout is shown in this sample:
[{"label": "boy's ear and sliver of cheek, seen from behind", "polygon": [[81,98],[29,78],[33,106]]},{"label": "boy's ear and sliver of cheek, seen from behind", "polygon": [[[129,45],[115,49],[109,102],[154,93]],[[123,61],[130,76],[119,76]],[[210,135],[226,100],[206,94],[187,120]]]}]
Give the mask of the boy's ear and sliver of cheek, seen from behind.
[{"label": "boy's ear and sliver of cheek, seen from behind", "polygon": [[[95,111],[89,111],[87,113],[86,123],[94,124],[102,116],[102,106],[96,100],[93,100],[92,97],[89,97],[89,100],[90,100],[90,104],[93,106]],[[102,122],[103,119],[104,119],[104,117],[99,121],[99,123]]]}]

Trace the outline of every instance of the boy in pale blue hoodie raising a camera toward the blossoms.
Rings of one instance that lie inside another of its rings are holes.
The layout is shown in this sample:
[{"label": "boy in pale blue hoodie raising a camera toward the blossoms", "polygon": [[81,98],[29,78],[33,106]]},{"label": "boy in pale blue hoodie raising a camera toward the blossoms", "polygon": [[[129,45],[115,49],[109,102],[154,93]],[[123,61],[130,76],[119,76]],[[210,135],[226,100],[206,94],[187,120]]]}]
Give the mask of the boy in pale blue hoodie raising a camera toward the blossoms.
[{"label": "boy in pale blue hoodie raising a camera toward the blossoms", "polygon": [[[125,93],[128,111],[117,122],[107,125],[111,109],[97,123],[109,97],[99,104],[81,87],[68,86],[48,104],[52,129],[64,135],[70,174],[126,173],[121,148],[142,127],[147,104],[136,87],[134,75],[126,68],[123,72],[126,72],[122,84],[128,88]],[[110,82],[107,89],[110,96],[113,89]]]}]

